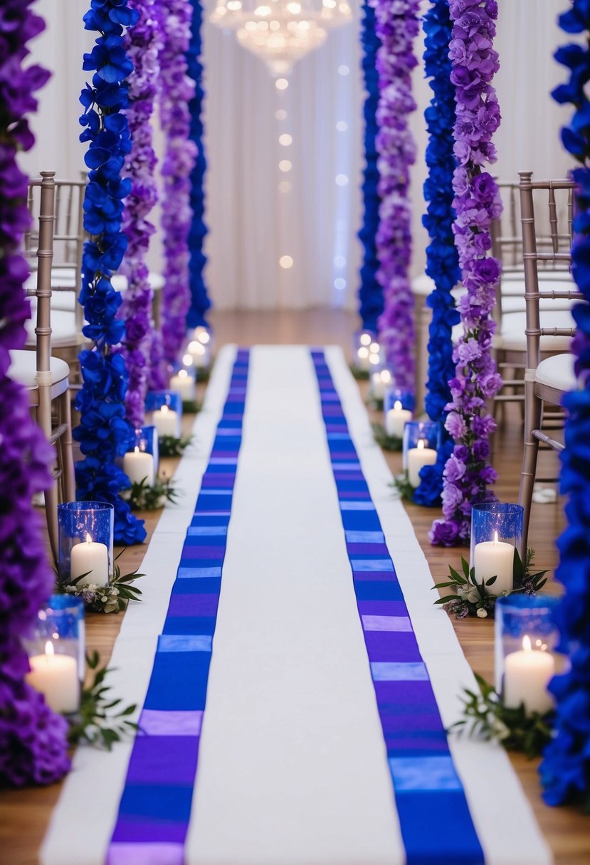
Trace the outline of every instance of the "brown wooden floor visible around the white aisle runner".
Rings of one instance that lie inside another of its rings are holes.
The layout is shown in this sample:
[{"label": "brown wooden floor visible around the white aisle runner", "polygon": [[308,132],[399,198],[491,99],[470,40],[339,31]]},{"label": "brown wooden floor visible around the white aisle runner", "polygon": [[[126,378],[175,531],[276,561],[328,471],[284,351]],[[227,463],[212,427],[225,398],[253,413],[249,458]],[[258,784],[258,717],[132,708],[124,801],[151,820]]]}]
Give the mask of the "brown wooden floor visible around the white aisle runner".
[{"label": "brown wooden floor visible around the white aisle runner", "polygon": [[[252,345],[256,343],[304,343],[309,345],[340,344],[350,353],[351,334],[357,327],[356,315],[343,311],[307,312],[217,312],[211,316],[215,329],[215,344],[224,343]],[[361,385],[362,390],[365,386]],[[201,388],[202,389],[202,388]],[[516,409],[515,406],[509,408]],[[521,426],[516,411],[508,412],[503,428],[497,432],[494,443],[494,465],[499,473],[496,486],[498,497],[504,502],[515,502],[520,471]],[[375,420],[377,416],[375,415]],[[185,418],[188,430],[192,419]],[[401,469],[398,454],[386,454],[392,472]],[[551,471],[552,454],[543,455],[548,471]],[[163,469],[168,474],[174,471],[178,460],[165,460]],[[428,542],[428,529],[439,511],[407,505],[407,511],[426,558],[433,578],[438,581],[447,573],[447,566],[459,565],[465,549],[433,548]],[[141,515],[145,518],[148,540],[157,524],[157,513]],[[535,548],[536,564],[553,572],[557,563],[555,538],[563,528],[562,503],[534,505],[529,535],[529,546]],[[127,548],[119,562],[125,571],[139,567],[145,546]],[[553,580],[548,590],[558,592]],[[446,615],[441,611],[441,615]],[[119,632],[120,616],[91,615],[87,622],[87,640],[90,649],[98,649],[103,660],[110,656],[112,644]],[[493,623],[482,620],[453,621],[465,656],[474,670],[493,678]],[[536,761],[527,761],[516,756],[513,765],[522,781],[524,790],[535,809],[536,817],[554,851],[557,865],[589,865],[590,822],[579,812],[569,808],[548,808],[540,796]],[[485,783],[485,779],[482,779]],[[60,785],[25,791],[0,791],[0,862],[3,865],[37,865],[37,850],[50,817],[51,809],[60,793]],[[92,803],[85,804],[92,808]],[[75,819],[75,815],[72,816]],[[498,827],[498,831],[502,828]],[[85,865],[80,862],[80,865]],[[280,865],[279,862],[276,865]],[[520,865],[514,862],[513,865]]]}]

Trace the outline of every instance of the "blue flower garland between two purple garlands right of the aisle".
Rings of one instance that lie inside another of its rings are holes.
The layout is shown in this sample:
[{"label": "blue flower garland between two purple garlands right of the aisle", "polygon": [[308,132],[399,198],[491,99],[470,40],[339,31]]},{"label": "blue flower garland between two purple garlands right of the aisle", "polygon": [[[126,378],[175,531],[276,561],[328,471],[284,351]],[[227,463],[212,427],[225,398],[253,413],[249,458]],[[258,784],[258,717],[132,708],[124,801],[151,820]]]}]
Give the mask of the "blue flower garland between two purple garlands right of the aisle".
[{"label": "blue flower garland between two purple garlands right of the aisle", "polygon": [[426,274],[433,279],[434,290],[426,303],[433,311],[428,329],[428,379],[425,407],[431,420],[438,420],[442,439],[435,465],[420,472],[420,486],[414,491],[418,504],[436,506],[440,503],[443,471],[452,454],[453,441],[444,427],[446,405],[451,402],[449,381],[455,375],[452,360],[452,327],[459,322],[452,289],[461,278],[459,253],[455,247],[452,223],[452,173],[455,170],[452,127],[455,123],[455,87],[451,82],[452,65],[448,45],[452,34],[452,21],[447,0],[433,0],[424,17],[426,34],[424,65],[426,78],[430,78],[433,98],[424,113],[429,141],[426,147],[428,177],[424,183],[424,197],[428,202],[422,224],[430,237],[426,247]]}]

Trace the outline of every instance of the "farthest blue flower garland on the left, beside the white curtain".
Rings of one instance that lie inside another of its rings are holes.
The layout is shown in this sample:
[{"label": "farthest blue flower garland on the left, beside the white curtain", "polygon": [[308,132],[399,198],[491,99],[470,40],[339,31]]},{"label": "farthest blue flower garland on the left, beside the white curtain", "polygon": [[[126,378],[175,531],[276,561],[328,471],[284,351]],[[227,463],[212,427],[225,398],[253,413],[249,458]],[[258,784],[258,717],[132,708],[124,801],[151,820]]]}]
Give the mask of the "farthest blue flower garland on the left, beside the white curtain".
[{"label": "farthest blue flower garland on the left, beside the white curtain", "polygon": [[203,279],[203,269],[207,263],[202,251],[207,226],[203,221],[205,211],[205,191],[203,178],[207,170],[207,161],[202,140],[202,103],[205,91],[202,87],[202,4],[201,0],[192,0],[193,18],[191,24],[191,38],[189,50],[186,55],[187,71],[189,78],[195,81],[195,96],[189,102],[190,111],[190,138],[196,144],[195,168],[190,175],[190,207],[193,211],[193,221],[189,230],[189,285],[190,285],[190,307],[187,314],[189,327],[207,326],[205,313],[211,306],[208,298],[207,286]]}]

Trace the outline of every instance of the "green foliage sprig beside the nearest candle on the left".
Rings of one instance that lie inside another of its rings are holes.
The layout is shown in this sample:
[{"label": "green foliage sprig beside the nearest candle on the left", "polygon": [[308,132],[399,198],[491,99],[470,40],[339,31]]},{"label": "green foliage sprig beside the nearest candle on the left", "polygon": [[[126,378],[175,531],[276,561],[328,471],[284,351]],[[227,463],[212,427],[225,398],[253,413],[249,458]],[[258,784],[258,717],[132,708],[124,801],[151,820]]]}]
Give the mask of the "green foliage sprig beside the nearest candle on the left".
[{"label": "green foliage sprig beside the nearest candle on the left", "polygon": [[138,724],[129,721],[137,705],[121,708],[121,701],[112,700],[108,695],[110,686],[105,684],[105,679],[111,670],[99,668],[98,651],[87,655],[86,661],[90,670],[95,670],[93,682],[89,688],[82,689],[80,711],[67,717],[67,741],[70,745],[86,742],[110,751],[114,742],[139,729]]}]

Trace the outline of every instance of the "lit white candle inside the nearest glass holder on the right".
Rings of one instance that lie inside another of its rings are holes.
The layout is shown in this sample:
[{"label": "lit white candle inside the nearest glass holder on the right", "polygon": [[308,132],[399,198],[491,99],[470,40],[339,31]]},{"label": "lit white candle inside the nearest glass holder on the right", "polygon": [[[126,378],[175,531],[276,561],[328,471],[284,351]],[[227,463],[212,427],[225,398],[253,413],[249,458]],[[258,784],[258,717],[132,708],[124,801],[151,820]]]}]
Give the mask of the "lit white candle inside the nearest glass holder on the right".
[{"label": "lit white candle inside the nearest glass holder on the right", "polygon": [[525,636],[522,650],[510,652],[504,658],[504,704],[517,708],[524,703],[528,713],[545,714],[553,708],[547,686],[554,673],[555,659],[551,652],[532,649],[530,638]]}]

